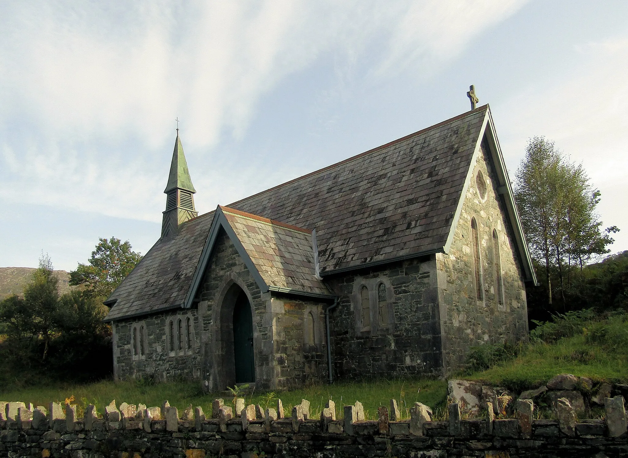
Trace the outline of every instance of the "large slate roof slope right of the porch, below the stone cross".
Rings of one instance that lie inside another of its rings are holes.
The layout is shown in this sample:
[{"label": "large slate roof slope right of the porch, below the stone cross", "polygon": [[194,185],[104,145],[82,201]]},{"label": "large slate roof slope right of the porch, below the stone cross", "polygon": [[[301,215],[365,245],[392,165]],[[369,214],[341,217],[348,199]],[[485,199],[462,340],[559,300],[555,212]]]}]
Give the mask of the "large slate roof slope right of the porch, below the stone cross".
[{"label": "large slate roof slope right of the porch, below the stone cross", "polygon": [[232,203],[316,229],[322,273],[442,250],[488,105]]}]

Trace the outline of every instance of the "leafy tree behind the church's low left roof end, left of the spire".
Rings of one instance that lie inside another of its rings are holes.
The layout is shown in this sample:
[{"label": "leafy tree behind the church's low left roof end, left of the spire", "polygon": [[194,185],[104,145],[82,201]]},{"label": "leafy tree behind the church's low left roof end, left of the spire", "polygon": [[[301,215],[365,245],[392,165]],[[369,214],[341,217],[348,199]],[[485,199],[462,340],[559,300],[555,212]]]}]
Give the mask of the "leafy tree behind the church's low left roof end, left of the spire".
[{"label": "leafy tree behind the church's low left roof end, left of the spire", "polygon": [[99,238],[96,249],[89,258],[89,264],[78,264],[77,270],[70,272],[70,285],[85,285],[90,292],[106,299],[116,289],[124,277],[141,260],[141,253],[131,250],[131,243],[122,243],[119,238]]}]

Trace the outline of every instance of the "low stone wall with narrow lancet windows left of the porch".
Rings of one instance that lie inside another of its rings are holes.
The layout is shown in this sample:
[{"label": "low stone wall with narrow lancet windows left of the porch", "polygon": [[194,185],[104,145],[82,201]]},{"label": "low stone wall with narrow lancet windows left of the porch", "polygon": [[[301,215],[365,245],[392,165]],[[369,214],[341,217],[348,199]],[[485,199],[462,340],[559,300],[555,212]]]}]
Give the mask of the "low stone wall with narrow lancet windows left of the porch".
[{"label": "low stone wall with narrow lancet windows left of the porch", "polygon": [[[190,317],[192,322],[192,348],[187,345],[187,329],[185,321]],[[178,349],[177,323],[181,319],[183,344]],[[168,325],[173,321],[175,332],[175,349],[170,351],[168,341]],[[188,380],[200,378],[199,322],[198,311],[174,310],[156,315],[116,321],[112,326],[114,346],[114,375],[117,380],[129,378],[152,377],[155,380],[167,381],[178,378]],[[137,329],[138,354],[133,349],[133,328]],[[141,329],[144,329],[142,335]],[[144,339],[144,354],[141,354],[141,343]]]}]

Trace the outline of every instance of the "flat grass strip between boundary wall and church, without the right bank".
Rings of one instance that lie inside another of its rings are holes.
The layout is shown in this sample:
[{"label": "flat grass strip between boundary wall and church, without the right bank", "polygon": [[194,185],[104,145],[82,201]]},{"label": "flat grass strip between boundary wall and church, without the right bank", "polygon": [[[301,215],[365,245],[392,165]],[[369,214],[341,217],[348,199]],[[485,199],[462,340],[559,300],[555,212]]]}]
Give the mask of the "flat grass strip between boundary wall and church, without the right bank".
[{"label": "flat grass strip between boundary wall and church, without the right bank", "polygon": [[[230,405],[232,397],[225,393],[203,394],[197,383],[173,382],[145,385],[140,382],[100,381],[85,385],[52,384],[45,387],[31,386],[11,390],[9,386],[0,388],[0,400],[30,402],[35,405],[47,406],[50,401],[64,402],[74,397],[80,407],[92,403],[99,412],[113,399],[117,405],[122,402],[129,404],[143,403],[148,407],[161,406],[165,400],[177,407],[180,412],[192,404],[200,406],[206,414],[212,412],[212,401],[223,398]],[[269,399],[268,393],[253,391],[246,395],[246,403],[261,405],[263,408],[276,407],[276,398],[280,398],[284,407],[284,415],[290,415],[292,407],[300,404],[301,399],[310,401],[310,413],[318,417],[328,399],[336,403],[338,418],[342,417],[342,405],[359,401],[364,405],[367,419],[377,418],[377,408],[389,406],[391,399],[396,399],[404,418],[409,418],[408,409],[414,402],[422,402],[436,408],[445,405],[447,398],[447,382],[440,380],[381,380],[372,382],[335,383],[333,385],[311,385],[299,390],[276,393]]]}]

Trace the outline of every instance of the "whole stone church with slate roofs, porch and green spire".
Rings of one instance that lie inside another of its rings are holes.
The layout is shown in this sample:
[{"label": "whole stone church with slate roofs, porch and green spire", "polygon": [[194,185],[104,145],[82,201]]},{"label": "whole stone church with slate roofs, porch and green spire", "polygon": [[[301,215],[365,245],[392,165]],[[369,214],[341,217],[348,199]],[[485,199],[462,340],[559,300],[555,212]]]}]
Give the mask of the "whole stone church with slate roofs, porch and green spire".
[{"label": "whole stone church with slate roofs, porch and green spire", "polygon": [[488,105],[200,216],[177,130],[165,193],[106,301],[118,380],[445,376],[527,338],[536,279]]}]

